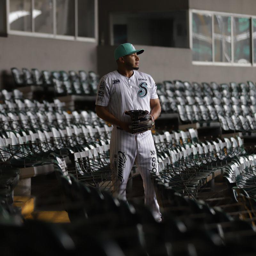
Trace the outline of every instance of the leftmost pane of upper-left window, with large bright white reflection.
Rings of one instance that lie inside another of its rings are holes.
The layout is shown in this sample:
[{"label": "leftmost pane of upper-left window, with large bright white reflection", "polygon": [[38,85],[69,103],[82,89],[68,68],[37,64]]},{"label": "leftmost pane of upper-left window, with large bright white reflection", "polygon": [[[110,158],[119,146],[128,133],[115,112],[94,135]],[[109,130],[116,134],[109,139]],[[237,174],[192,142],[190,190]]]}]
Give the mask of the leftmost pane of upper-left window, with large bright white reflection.
[{"label": "leftmost pane of upper-left window, with large bright white reflection", "polygon": [[11,30],[31,32],[31,0],[10,1],[9,23]]}]

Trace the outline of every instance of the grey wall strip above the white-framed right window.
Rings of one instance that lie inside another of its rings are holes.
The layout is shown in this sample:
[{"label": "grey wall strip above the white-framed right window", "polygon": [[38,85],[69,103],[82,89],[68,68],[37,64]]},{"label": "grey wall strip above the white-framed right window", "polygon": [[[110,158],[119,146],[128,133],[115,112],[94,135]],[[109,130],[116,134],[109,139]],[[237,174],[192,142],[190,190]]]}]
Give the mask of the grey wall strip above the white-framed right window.
[{"label": "grey wall strip above the white-framed right window", "polygon": [[255,15],[255,0],[189,0],[190,9]]}]

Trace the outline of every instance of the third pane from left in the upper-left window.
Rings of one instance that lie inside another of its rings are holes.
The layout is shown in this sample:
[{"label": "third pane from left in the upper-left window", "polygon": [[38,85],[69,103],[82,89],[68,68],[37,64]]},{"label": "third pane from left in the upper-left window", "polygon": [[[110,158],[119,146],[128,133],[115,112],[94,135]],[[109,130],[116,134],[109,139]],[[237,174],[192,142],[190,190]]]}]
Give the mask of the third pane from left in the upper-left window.
[{"label": "third pane from left in the upper-left window", "polygon": [[57,34],[75,36],[75,1],[56,0]]}]

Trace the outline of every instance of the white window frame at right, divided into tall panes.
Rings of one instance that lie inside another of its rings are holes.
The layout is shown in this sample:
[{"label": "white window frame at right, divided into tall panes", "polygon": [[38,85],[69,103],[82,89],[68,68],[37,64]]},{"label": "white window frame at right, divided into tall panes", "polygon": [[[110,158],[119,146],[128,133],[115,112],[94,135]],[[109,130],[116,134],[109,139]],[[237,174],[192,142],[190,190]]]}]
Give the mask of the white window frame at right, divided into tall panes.
[{"label": "white window frame at right, divided into tall panes", "polygon": [[[193,13],[197,14],[208,14],[212,16],[212,61],[197,61],[193,60],[193,65],[204,65],[204,66],[233,66],[233,67],[256,67],[256,63],[254,63],[254,52],[253,52],[253,36],[252,36],[252,19],[256,19],[256,16],[253,15],[246,15],[246,14],[239,14],[239,13],[231,13],[231,12],[214,12],[214,11],[207,11],[207,10],[197,10],[197,9],[189,9],[189,48],[193,51],[193,31],[192,31],[192,19]],[[214,15],[221,15],[221,16],[228,16],[230,17],[230,36],[231,36],[231,62],[218,62],[215,61],[214,55]],[[251,37],[251,56],[249,63],[235,63],[234,62],[234,40],[233,40],[233,18],[248,18],[250,22],[250,37]]]}]

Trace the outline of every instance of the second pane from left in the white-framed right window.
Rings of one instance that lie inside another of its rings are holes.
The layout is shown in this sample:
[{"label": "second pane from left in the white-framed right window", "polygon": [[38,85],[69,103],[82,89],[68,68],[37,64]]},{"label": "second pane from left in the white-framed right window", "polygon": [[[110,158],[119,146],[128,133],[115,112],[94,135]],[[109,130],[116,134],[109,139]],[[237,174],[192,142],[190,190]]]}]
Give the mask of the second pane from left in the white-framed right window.
[{"label": "second pane from left in the white-framed right window", "polygon": [[230,17],[214,15],[214,61],[231,62]]}]

